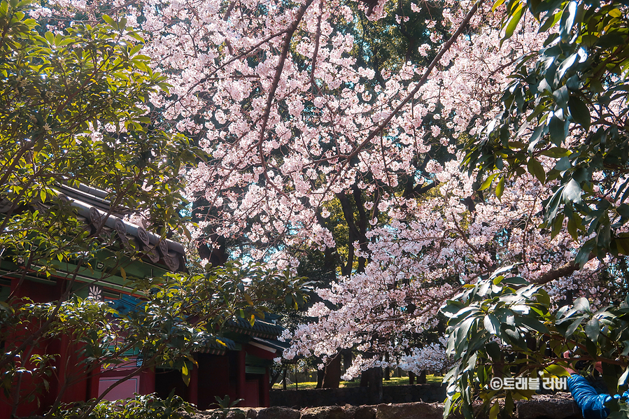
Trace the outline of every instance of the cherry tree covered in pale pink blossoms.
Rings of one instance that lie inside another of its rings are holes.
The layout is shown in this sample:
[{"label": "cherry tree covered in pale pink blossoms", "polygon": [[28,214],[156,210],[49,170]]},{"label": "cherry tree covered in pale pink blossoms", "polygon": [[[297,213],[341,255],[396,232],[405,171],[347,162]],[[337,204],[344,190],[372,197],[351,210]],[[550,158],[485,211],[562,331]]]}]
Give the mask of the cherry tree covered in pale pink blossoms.
[{"label": "cherry tree covered in pale pink blossoms", "polygon": [[355,348],[355,376],[384,354],[443,367],[439,341],[414,336],[437,326],[462,284],[504,264],[549,283],[553,301],[603,303],[615,286],[600,279],[619,272],[613,257],[565,269],[588,237],[538,228],[556,193],[542,157],[517,177],[460,172],[460,145],[500,115],[518,58],[546,39],[530,15],[492,6],[57,1],[41,14],[58,24],[108,8],[146,31],[143,53],[172,85],[147,105],[211,155],[185,172],[199,254],[316,271],[320,301],[306,314],[317,320],[287,334],[287,356],[325,362]]}]

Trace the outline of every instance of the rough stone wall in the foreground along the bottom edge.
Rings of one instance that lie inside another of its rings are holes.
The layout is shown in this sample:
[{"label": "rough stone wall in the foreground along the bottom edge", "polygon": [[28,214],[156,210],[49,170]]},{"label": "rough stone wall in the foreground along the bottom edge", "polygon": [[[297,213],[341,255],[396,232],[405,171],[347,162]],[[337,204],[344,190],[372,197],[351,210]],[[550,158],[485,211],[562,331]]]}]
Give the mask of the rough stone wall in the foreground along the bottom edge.
[{"label": "rough stone wall in the foreground along the bottom edge", "polygon": [[[347,404],[301,410],[275,406],[202,411],[194,419],[442,419],[443,409],[443,404],[423,402],[377,406]],[[532,400],[516,402],[516,411],[508,416],[515,419],[583,419],[577,404],[566,393],[534,396]],[[453,415],[451,419],[461,419],[461,416]]]}]

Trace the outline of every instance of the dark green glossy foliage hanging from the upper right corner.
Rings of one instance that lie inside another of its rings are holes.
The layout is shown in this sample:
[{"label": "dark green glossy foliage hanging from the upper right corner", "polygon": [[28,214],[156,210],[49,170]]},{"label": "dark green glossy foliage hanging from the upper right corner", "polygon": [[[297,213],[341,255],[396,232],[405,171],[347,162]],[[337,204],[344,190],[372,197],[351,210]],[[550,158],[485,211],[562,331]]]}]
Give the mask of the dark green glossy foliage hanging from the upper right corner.
[{"label": "dark green glossy foliage hanging from the upper right corner", "polygon": [[[503,1],[497,1],[495,7]],[[505,38],[526,11],[548,35],[522,57],[504,90],[500,115],[467,145],[464,165],[478,168],[481,190],[531,173],[553,185],[544,225],[557,234],[567,220],[576,240],[592,238],[577,257],[629,253],[627,101],[629,9],[624,2],[520,1],[507,4]]]}]

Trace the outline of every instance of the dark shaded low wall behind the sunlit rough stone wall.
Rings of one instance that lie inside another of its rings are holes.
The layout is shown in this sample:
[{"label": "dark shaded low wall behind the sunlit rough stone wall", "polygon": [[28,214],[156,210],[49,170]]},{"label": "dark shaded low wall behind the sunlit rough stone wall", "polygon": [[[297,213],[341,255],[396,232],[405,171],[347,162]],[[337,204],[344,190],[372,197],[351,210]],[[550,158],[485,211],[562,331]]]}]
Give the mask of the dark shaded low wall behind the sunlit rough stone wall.
[{"label": "dark shaded low wall behind the sunlit rough stone wall", "polygon": [[[382,402],[443,402],[446,388],[441,384],[388,385],[382,388]],[[271,390],[271,406],[290,406],[295,409],[318,406],[360,406],[374,404],[365,387],[317,388],[313,390]]]}]

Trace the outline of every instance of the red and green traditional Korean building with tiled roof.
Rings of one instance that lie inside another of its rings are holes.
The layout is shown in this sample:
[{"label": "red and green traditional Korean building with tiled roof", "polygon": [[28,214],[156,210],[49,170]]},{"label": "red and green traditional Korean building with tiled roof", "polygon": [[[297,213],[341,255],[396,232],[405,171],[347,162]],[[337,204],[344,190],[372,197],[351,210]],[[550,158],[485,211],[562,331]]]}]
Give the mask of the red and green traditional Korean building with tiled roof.
[{"label": "red and green traditional Korean building with tiled roof", "polygon": [[[139,299],[131,297],[131,290],[127,287],[127,280],[123,276],[136,278],[152,278],[162,276],[167,272],[185,270],[185,250],[180,243],[147,232],[141,225],[133,224],[124,219],[129,214],[128,208],[110,208],[107,193],[93,187],[81,185],[78,189],[60,186],[59,194],[76,208],[87,229],[92,232],[99,230],[100,234],[116,236],[119,249],[123,246],[141,250],[141,260],[112,262],[111,253],[104,251],[99,260],[90,264],[92,269],[77,267],[71,263],[57,263],[57,274],[52,276],[40,275],[33,267],[24,275],[20,267],[10,257],[0,257],[0,301],[6,301],[10,295],[27,297],[34,302],[56,301],[69,286],[69,273],[78,271],[72,282],[74,294],[80,297],[94,297],[110,301],[118,310],[134,310],[141,304]],[[45,211],[45,205],[39,204]],[[8,211],[8,206],[2,206],[0,213]],[[107,215],[109,214],[109,215]],[[124,266],[124,274],[117,266]],[[283,346],[276,339],[282,328],[275,324],[274,318],[256,320],[253,325],[246,320],[239,319],[229,322],[225,337],[221,340],[225,346],[209,341],[199,346],[195,354],[198,368],[192,369],[190,384],[186,386],[181,379],[181,371],[167,368],[157,368],[144,371],[108,392],[106,399],[125,399],[133,397],[134,393],[149,394],[156,392],[160,397],[167,397],[175,389],[177,395],[186,401],[197,404],[200,409],[207,409],[215,403],[215,396],[230,399],[244,399],[239,406],[269,406],[269,367],[274,357],[278,357]],[[13,336],[2,342],[3,352],[24,339],[23,336]],[[39,398],[41,406],[26,401],[17,410],[18,416],[29,416],[43,413],[46,408],[63,392],[62,402],[85,401],[98,397],[119,378],[126,376],[130,369],[136,367],[142,360],[134,353],[127,354],[127,364],[117,365],[115,368],[100,368],[85,374],[80,367],[79,360],[71,359],[76,353],[74,343],[69,338],[50,339],[43,346],[34,350],[42,353],[59,354],[55,358],[55,374],[50,379],[48,392]],[[66,377],[76,378],[84,376],[83,380],[66,386]],[[29,391],[32,387],[26,379],[21,383],[22,390]],[[63,388],[65,387],[65,388]],[[0,396],[0,418],[8,418],[11,413],[8,399]]]}]

